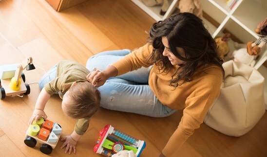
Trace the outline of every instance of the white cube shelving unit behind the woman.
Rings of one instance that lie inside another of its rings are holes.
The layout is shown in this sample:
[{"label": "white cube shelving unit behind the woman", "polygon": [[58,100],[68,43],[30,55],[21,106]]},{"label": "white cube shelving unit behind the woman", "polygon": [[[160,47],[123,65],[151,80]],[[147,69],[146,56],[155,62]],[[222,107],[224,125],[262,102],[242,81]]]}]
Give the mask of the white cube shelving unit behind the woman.
[{"label": "white cube shelving unit behind the woman", "polygon": [[[169,0],[170,7],[164,16],[159,15],[161,6],[147,7],[142,0],[132,0],[137,6],[153,17],[156,21],[169,17],[176,9],[178,0]],[[254,32],[258,23],[267,17],[267,0],[238,0],[232,9],[226,4],[227,0],[199,0],[203,11],[215,19],[220,25],[213,26],[203,19],[213,37],[222,35],[227,29],[232,35],[239,38],[243,43],[256,41],[259,36]],[[233,45],[233,44],[231,44]],[[230,50],[234,50],[230,48]],[[254,66],[258,69],[267,60],[267,45],[256,60]]]}]

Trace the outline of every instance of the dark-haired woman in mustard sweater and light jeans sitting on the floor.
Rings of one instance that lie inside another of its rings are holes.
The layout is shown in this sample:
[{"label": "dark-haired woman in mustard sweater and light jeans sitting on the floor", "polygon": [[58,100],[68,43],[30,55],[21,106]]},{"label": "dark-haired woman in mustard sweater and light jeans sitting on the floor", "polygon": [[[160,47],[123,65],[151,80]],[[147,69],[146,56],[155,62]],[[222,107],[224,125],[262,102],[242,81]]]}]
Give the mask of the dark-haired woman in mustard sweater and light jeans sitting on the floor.
[{"label": "dark-haired woman in mustard sweater and light jeans sitting on the floor", "polygon": [[159,155],[168,157],[200,127],[219,96],[225,74],[222,63],[202,20],[179,13],[154,23],[148,43],[138,50],[102,52],[89,58],[86,67],[104,108],[152,117],[184,109]]}]

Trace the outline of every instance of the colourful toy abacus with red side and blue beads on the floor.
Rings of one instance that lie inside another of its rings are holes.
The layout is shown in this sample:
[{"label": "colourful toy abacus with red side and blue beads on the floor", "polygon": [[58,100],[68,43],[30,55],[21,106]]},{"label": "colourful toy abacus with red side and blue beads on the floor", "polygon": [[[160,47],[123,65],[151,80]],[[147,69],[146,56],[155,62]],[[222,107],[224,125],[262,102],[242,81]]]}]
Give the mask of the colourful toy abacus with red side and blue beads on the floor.
[{"label": "colourful toy abacus with red side and blue beads on the floor", "polygon": [[145,147],[145,141],[135,139],[108,124],[99,131],[99,138],[94,151],[106,157],[111,157],[122,150],[132,150],[136,157],[139,157]]}]

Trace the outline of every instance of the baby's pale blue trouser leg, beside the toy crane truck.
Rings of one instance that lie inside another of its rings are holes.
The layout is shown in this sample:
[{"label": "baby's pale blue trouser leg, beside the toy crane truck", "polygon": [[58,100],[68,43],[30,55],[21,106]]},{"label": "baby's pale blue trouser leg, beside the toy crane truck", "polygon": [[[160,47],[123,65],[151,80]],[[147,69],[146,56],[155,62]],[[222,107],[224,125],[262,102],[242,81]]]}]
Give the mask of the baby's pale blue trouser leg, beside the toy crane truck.
[{"label": "baby's pale blue trouser leg, beside the toy crane truck", "polygon": [[57,65],[47,71],[39,80],[39,89],[42,89],[45,84],[49,83],[57,77]]}]

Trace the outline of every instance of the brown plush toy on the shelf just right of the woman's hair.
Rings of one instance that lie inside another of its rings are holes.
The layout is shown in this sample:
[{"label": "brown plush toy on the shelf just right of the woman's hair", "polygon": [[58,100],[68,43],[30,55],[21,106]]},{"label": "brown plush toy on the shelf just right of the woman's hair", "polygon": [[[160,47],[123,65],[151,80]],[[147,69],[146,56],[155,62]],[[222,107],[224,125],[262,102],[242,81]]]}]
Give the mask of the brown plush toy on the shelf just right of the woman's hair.
[{"label": "brown plush toy on the shelf just right of the woman's hair", "polygon": [[226,33],[223,37],[216,37],[215,41],[218,46],[219,57],[223,58],[229,52],[228,41],[230,40],[230,34]]}]

